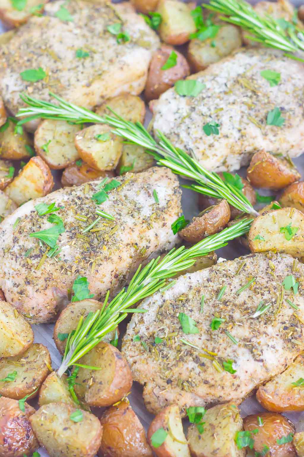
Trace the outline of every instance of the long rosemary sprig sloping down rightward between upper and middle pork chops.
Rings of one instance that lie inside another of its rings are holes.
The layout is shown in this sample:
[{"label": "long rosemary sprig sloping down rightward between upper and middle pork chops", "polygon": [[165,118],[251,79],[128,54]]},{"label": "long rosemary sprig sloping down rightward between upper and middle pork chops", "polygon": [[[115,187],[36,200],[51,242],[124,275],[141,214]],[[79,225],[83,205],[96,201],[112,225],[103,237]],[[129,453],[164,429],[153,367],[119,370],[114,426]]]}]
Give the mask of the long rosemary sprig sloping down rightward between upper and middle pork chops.
[{"label": "long rosemary sprig sloping down rightward between upper and middle pork chops", "polygon": [[185,187],[211,197],[225,198],[230,205],[240,211],[252,214],[255,217],[259,215],[240,189],[222,181],[216,173],[206,170],[195,157],[191,157],[183,150],[175,148],[160,131],[157,131],[157,143],[140,122],[125,121],[114,112],[116,117],[100,117],[81,106],[68,103],[52,92],[50,92],[50,95],[58,101],[58,105],[21,94],[21,99],[29,107],[19,110],[17,117],[24,117],[24,119],[19,121],[18,125],[37,118],[58,119],[77,124],[84,122],[106,123],[115,128],[113,133],[116,135],[127,138],[129,143],[138,144],[147,149],[147,152],[155,157],[158,165],[166,166],[174,173],[196,181],[196,184]]}]

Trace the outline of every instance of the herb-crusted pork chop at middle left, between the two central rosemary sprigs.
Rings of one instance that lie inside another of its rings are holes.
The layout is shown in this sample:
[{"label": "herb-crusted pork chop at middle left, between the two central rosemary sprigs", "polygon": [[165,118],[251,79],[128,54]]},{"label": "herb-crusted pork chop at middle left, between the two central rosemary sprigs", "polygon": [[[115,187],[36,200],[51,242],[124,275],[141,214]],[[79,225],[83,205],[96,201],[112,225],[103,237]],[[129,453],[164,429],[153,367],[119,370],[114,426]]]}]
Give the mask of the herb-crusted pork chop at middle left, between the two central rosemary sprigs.
[{"label": "herb-crusted pork chop at middle left, between the two central rosemary sprigs", "polygon": [[[171,229],[181,211],[175,175],[155,167],[116,181],[121,185],[108,191],[101,205],[91,199],[100,181],[92,181],[27,202],[0,224],[0,288],[30,323],[54,320],[78,275],[88,278],[90,292],[99,299],[108,289],[113,293],[124,286],[150,255],[170,250],[177,242]],[[55,226],[47,222],[49,214],[37,213],[35,205],[42,202],[64,207],[54,214],[62,218],[65,232],[57,241],[61,252],[41,261],[47,246],[29,234]],[[101,218],[83,234],[97,217],[97,207],[115,220]]]}]

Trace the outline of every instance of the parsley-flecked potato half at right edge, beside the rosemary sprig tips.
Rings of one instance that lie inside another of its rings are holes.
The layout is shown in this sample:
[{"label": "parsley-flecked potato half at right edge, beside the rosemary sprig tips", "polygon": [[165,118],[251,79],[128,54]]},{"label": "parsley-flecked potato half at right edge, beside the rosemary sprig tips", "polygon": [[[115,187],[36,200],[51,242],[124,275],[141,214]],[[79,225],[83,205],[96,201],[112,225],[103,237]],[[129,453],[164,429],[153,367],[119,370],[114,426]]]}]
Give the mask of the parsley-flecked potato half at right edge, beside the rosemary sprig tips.
[{"label": "parsley-flecked potato half at right edge, beside the rosemary sprig tips", "polygon": [[248,242],[251,252],[274,249],[301,257],[304,252],[304,214],[295,208],[263,213],[252,222]]}]

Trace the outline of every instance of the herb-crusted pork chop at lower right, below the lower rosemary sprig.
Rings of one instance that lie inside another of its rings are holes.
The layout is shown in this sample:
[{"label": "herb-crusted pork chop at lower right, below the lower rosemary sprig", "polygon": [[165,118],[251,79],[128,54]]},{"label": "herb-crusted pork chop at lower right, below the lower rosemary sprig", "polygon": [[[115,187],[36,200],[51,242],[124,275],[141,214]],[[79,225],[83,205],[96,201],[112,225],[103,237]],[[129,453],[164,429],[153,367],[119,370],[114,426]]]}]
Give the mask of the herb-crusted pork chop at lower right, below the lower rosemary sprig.
[{"label": "herb-crusted pork chop at lower right, below the lower rosemary sprig", "polygon": [[[140,303],[148,312],[133,315],[122,352],[134,381],[145,385],[150,412],[241,401],[303,351],[304,265],[294,271],[294,262],[284,254],[246,255],[180,276]],[[282,285],[289,275],[299,282],[295,295]]]}]

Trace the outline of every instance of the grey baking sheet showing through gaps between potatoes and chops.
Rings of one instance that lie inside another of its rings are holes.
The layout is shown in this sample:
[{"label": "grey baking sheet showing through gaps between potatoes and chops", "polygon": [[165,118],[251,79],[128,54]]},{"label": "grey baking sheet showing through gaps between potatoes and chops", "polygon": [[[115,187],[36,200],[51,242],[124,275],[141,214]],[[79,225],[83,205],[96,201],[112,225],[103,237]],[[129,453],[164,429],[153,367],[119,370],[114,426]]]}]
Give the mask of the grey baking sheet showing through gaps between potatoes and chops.
[{"label": "grey baking sheet showing through gaps between potatoes and chops", "polygon": [[[115,3],[117,3],[117,1],[115,1]],[[256,3],[256,1],[252,1],[251,3]],[[301,4],[301,0],[295,0],[292,3],[296,6],[299,6]],[[7,28],[0,21],[0,33],[3,33],[5,31],[7,31]],[[150,118],[151,118],[151,113],[149,111],[147,111],[145,125],[148,125]],[[303,176],[304,175],[304,155],[302,155],[301,157],[298,157],[297,159],[294,159],[294,163],[297,166],[301,175]],[[246,168],[242,168],[241,170],[238,171],[238,173],[242,176],[246,176]],[[53,175],[54,175],[55,182],[57,182],[57,186],[59,186],[61,172],[54,171]],[[180,179],[180,184],[183,184],[185,182],[186,181]],[[267,195],[266,191],[265,192],[260,191],[260,193]],[[268,193],[268,195],[269,195],[269,193]],[[198,213],[197,198],[198,198],[198,194],[195,194],[194,192],[192,192],[188,189],[183,189],[182,207],[183,207],[183,212],[185,214],[185,218],[191,219],[193,216],[196,216],[196,214]],[[263,206],[263,205],[261,205],[261,206]],[[216,253],[217,253],[218,257],[224,257],[225,259],[232,260],[235,257],[238,257],[240,255],[248,254],[248,251],[245,248],[243,248],[242,246],[240,246],[237,243],[237,241],[231,241],[228,246],[216,251]],[[52,367],[56,370],[61,364],[61,356],[60,356],[59,352],[57,351],[55,343],[52,339],[53,327],[54,327],[53,324],[40,324],[40,325],[33,326],[33,330],[34,330],[34,334],[35,334],[35,342],[42,343],[48,347],[50,354],[51,354],[51,358],[52,358]],[[122,327],[125,328],[125,325],[122,324]],[[121,330],[122,330],[121,335],[123,335],[124,329],[122,328]],[[154,416],[152,414],[150,414],[144,407],[144,402],[143,402],[143,398],[142,398],[142,387],[139,385],[139,383],[133,384],[132,392],[128,398],[129,398],[130,404],[132,405],[135,413],[139,416],[139,419],[141,420],[145,429],[147,429]],[[32,401],[30,403],[33,406],[35,406],[34,401]],[[264,410],[261,407],[261,405],[258,403],[258,401],[255,399],[255,395],[253,395],[252,397],[249,397],[245,401],[243,401],[240,408],[241,408],[242,417],[245,417],[248,414],[256,414],[256,413]],[[288,417],[294,423],[297,431],[304,430],[304,412],[287,413],[284,415],[286,415],[286,417]],[[185,421],[185,425],[187,425],[186,421]],[[48,454],[44,450],[39,449],[39,452],[41,454],[41,457],[48,457]],[[28,456],[28,457],[30,457],[30,456]]]}]

